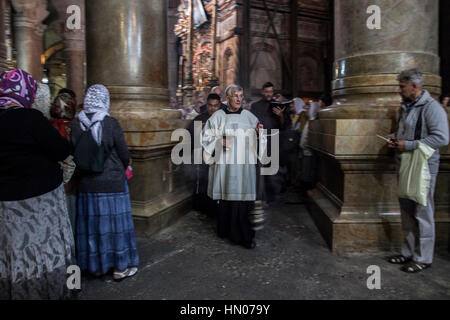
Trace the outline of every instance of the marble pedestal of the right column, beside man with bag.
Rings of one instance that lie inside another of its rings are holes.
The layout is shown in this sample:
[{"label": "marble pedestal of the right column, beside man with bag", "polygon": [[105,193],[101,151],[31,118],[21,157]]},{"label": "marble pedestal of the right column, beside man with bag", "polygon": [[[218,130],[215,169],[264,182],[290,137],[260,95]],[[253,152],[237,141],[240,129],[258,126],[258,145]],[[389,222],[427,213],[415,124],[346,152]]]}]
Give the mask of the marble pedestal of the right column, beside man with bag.
[{"label": "marble pedestal of the right column, beside man with bag", "polygon": [[[400,206],[394,156],[377,134],[393,120],[322,119],[311,126],[320,183],[309,192],[310,213],[335,252],[395,250],[401,246]],[[436,245],[450,247],[450,159],[441,150],[435,190]]]}]

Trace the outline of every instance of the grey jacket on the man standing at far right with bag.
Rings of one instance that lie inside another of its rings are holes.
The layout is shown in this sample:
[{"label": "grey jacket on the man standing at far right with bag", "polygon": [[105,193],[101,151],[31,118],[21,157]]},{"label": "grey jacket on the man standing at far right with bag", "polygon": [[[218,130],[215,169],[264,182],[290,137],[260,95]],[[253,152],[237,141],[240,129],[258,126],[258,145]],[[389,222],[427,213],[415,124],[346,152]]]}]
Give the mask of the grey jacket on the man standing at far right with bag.
[{"label": "grey jacket on the man standing at far right with bag", "polygon": [[[418,148],[419,140],[414,140],[417,120],[422,111],[422,132],[420,142],[435,149],[433,156],[428,160],[431,174],[439,172],[439,149],[449,143],[449,129],[447,113],[444,108],[434,100],[428,91],[424,90],[422,97],[412,107],[403,104],[397,114],[398,130],[396,138],[406,140],[405,149],[412,151]],[[397,154],[399,162],[400,155]]]}]

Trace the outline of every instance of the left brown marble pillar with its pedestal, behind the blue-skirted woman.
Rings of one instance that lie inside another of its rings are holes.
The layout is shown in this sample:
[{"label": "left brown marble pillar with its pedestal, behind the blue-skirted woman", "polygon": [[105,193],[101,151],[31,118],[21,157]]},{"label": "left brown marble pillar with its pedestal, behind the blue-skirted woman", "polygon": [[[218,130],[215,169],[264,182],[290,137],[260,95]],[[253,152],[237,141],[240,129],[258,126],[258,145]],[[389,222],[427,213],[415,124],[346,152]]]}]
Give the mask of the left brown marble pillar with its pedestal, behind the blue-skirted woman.
[{"label": "left brown marble pillar with its pedestal, behind the blue-skirted woman", "polygon": [[171,133],[187,123],[167,109],[166,1],[87,1],[86,30],[87,82],[111,93],[133,158],[136,228],[150,234],[185,213],[191,196],[170,158]]}]

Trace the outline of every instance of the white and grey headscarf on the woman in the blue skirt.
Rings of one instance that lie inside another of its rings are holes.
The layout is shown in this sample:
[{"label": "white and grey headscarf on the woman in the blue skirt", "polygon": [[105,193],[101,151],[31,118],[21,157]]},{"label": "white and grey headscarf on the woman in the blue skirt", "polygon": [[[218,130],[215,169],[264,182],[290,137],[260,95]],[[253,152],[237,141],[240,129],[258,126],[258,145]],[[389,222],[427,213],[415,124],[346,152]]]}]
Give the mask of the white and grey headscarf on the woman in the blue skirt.
[{"label": "white and grey headscarf on the woman in the blue skirt", "polygon": [[[78,114],[81,129],[91,128],[92,137],[100,145],[102,142],[102,121],[109,116],[109,91],[101,84],[89,87],[84,97],[83,110]],[[91,119],[87,114],[93,113]],[[94,125],[93,125],[94,124]]]}]

